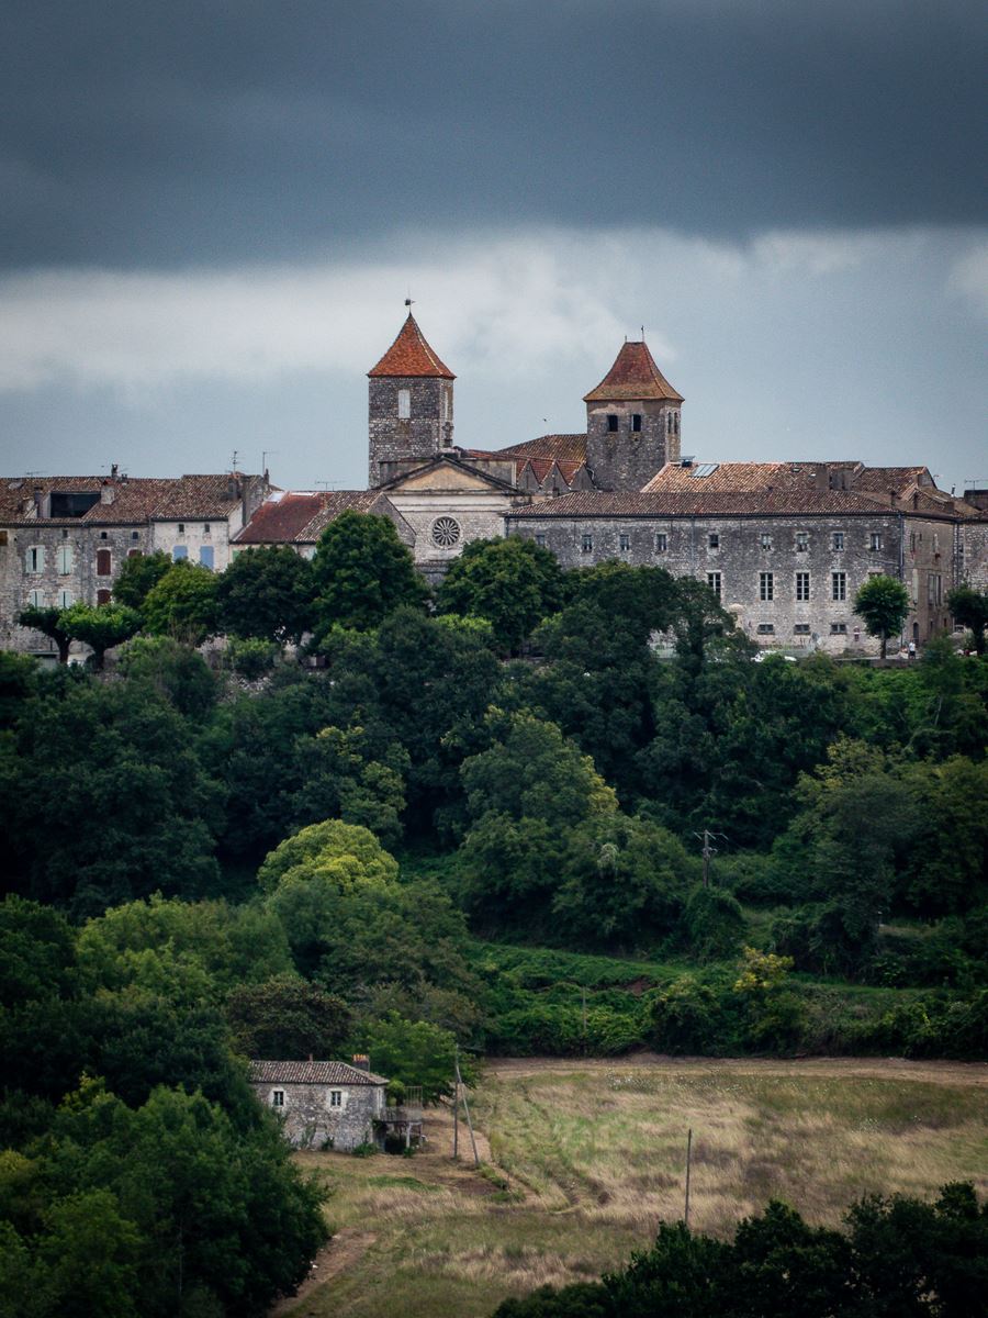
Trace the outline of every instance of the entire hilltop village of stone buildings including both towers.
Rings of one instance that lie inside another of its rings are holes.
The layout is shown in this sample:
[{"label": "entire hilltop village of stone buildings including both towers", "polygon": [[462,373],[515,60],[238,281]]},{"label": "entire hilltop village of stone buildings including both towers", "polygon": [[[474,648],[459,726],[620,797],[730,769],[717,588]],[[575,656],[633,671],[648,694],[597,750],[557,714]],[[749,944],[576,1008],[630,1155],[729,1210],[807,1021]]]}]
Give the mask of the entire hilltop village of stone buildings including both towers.
[{"label": "entire hilltop village of stone buildings including both towers", "polygon": [[664,567],[705,581],[752,641],[794,654],[875,648],[852,612],[869,576],[905,584],[904,645],[950,626],[952,587],[988,585],[987,489],[947,494],[918,465],[684,456],[684,398],[644,341],[622,344],[585,394],[585,432],[495,451],[456,443],[456,377],[411,312],[368,380],[362,490],[282,490],[267,472],[7,477],[0,645],[49,652],[18,613],[108,602],[128,558],[161,550],[216,572],[253,546],[311,558],[346,510],[389,517],[432,583],[465,544],[502,535],[566,568]]}]

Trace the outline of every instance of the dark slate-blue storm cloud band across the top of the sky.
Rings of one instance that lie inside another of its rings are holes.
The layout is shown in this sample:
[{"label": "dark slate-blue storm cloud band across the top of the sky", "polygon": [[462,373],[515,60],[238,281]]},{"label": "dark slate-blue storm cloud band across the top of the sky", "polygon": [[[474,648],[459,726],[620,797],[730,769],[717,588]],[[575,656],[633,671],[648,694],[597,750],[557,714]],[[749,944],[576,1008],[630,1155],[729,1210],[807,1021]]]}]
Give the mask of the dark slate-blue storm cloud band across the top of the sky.
[{"label": "dark slate-blue storm cloud band across the top of the sky", "polygon": [[983,14],[8,0],[0,250],[146,266],[474,221],[972,223]]}]

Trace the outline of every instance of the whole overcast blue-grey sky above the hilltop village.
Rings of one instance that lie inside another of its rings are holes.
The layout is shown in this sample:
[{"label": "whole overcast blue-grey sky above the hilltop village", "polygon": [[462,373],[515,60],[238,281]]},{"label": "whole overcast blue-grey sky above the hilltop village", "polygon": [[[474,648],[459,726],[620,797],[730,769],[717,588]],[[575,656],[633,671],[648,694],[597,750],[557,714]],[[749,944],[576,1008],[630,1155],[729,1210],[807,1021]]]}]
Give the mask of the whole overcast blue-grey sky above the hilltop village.
[{"label": "whole overcast blue-grey sky above the hilltop village", "polygon": [[456,439],[581,430],[624,335],[684,452],[988,482],[988,9],[7,0],[4,468],[360,486],[411,293]]}]

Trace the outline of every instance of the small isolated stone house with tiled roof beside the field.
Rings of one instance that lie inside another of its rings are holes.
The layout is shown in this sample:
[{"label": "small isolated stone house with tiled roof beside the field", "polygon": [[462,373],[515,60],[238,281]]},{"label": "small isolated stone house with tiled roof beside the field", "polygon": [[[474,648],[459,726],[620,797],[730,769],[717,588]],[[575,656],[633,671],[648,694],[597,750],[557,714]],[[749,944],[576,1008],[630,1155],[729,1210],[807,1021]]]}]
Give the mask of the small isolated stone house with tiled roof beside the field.
[{"label": "small isolated stone house with tiled roof beside the field", "polygon": [[366,1057],[354,1064],[252,1061],[250,1085],[298,1148],[383,1147],[387,1079],[370,1070]]}]

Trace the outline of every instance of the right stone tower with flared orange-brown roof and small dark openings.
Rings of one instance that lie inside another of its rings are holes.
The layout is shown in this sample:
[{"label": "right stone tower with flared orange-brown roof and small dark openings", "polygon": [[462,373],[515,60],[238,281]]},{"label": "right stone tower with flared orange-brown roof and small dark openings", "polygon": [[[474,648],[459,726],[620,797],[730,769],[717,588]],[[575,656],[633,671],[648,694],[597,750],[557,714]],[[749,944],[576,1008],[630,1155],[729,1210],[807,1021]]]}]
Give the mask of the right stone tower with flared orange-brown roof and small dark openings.
[{"label": "right stone tower with flared orange-brown roof and small dark openings", "polygon": [[601,490],[640,490],[680,460],[677,394],[644,339],[624,343],[586,403],[586,465]]}]

